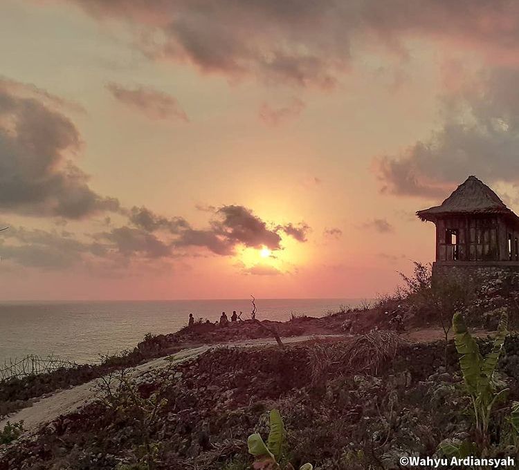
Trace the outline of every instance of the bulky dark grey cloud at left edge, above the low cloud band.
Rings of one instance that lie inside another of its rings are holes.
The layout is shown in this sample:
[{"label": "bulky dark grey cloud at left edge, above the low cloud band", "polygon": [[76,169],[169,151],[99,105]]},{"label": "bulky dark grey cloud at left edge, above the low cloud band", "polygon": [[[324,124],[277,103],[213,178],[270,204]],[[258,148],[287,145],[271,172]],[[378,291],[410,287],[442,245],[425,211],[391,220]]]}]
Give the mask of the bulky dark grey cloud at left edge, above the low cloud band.
[{"label": "bulky dark grey cloud at left edge, above the low cloud band", "polygon": [[71,159],[80,149],[73,122],[16,91],[0,80],[0,209],[64,218],[117,211],[118,200],[95,193]]}]

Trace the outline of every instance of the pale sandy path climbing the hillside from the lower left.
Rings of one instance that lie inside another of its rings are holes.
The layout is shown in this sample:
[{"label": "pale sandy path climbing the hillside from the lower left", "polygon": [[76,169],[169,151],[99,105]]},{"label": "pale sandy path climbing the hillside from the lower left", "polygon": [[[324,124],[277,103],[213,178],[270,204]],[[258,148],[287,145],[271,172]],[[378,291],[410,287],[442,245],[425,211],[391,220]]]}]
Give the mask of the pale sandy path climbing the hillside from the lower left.
[{"label": "pale sandy path climbing the hillside from the lower left", "polygon": [[[339,336],[342,335],[326,335],[326,337]],[[309,339],[314,338],[316,338],[316,336],[298,336],[283,338],[282,341],[285,344],[289,344],[300,341],[308,341]],[[176,353],[169,357],[173,357],[173,361],[175,364],[180,364],[181,362],[188,361],[189,359],[193,359],[194,357],[206,353],[206,351],[210,349],[221,348],[225,346],[230,346],[234,348],[246,348],[252,346],[265,346],[270,344],[275,344],[275,340],[251,339],[246,341],[235,341],[232,343],[212,344],[199,346],[198,348],[183,349],[179,351],[179,353]],[[139,377],[140,375],[149,372],[149,370],[166,367],[167,365],[168,362],[165,361],[165,357],[153,359],[152,361],[148,361],[145,364],[140,364],[140,366],[132,368],[133,370],[131,372],[131,376]],[[0,421],[0,429],[3,429],[3,426],[5,426],[8,420],[10,422],[24,420],[24,428],[29,432],[35,431],[40,426],[55,420],[60,415],[67,415],[69,413],[72,413],[73,411],[78,410],[78,408],[84,406],[84,404],[89,403],[91,400],[95,398],[93,388],[99,380],[100,379],[94,379],[90,382],[86,382],[85,384],[78,385],[73,388],[67,388],[66,390],[57,391],[56,393],[53,393],[53,395],[44,397],[41,400],[35,402],[33,406],[12,413],[10,416]]]}]

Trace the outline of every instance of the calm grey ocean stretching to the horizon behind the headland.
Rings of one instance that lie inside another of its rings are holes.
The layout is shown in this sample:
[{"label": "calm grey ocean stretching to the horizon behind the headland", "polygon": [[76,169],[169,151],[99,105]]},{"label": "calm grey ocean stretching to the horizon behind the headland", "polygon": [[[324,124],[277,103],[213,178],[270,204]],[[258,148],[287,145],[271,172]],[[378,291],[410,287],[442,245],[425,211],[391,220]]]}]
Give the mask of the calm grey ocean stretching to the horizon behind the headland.
[{"label": "calm grey ocean stretching to the horizon behind the headland", "polygon": [[[291,312],[322,317],[363,299],[257,299],[257,319],[287,320]],[[188,301],[12,301],[0,303],[0,366],[26,355],[93,363],[132,349],[147,332],[170,333],[195,318],[233,310],[250,318],[251,299]]]}]

